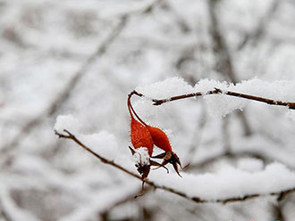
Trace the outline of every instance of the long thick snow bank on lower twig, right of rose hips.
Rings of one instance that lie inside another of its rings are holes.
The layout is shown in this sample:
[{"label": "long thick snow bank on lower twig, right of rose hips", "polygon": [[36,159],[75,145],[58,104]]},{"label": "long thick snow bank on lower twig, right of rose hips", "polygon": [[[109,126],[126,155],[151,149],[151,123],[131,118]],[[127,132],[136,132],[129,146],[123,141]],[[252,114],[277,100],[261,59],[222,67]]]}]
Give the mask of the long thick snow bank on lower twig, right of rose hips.
[{"label": "long thick snow bank on lower twig, right of rose hips", "polygon": [[295,183],[295,173],[280,163],[269,164],[264,170],[255,172],[224,167],[215,173],[202,175],[181,172],[182,179],[175,173],[163,176],[164,171],[157,170],[149,178],[156,184],[179,190],[190,197],[212,201],[253,193],[281,192],[293,188]]}]

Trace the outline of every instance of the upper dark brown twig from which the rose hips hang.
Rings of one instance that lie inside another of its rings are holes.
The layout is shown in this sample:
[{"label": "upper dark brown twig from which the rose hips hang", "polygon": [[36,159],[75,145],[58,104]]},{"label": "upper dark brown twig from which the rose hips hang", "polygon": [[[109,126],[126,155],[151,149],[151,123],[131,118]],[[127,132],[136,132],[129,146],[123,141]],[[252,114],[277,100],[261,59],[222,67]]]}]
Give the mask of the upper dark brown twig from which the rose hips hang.
[{"label": "upper dark brown twig from which the rose hips hang", "polygon": [[[133,92],[133,94],[136,94],[140,97],[144,96],[143,94],[140,94],[139,92],[136,92],[136,91]],[[219,88],[215,88],[215,90],[208,91],[206,93],[197,92],[197,93],[191,93],[191,94],[181,94],[181,95],[173,96],[173,97],[166,98],[166,99],[160,99],[160,100],[152,99],[152,102],[154,102],[153,103],[154,105],[161,105],[165,102],[173,102],[173,101],[177,101],[177,100],[181,100],[181,99],[186,99],[186,98],[190,98],[190,97],[199,97],[199,96],[204,96],[204,95],[209,95],[209,94],[225,94],[228,96],[240,97],[240,98],[244,98],[244,99],[248,99],[248,100],[252,100],[252,101],[265,102],[270,105],[285,106],[291,110],[295,110],[295,102],[275,101],[273,99],[259,97],[259,96],[250,95],[250,94],[242,94],[242,93],[237,93],[237,92],[233,92],[233,91],[223,91]]]}]

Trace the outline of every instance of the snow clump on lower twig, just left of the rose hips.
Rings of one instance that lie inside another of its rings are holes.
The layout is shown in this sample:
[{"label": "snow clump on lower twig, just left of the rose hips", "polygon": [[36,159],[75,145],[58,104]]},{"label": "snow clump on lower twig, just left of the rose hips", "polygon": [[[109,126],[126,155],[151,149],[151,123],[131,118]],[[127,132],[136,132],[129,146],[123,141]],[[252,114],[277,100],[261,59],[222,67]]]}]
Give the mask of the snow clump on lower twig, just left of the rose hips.
[{"label": "snow clump on lower twig, just left of the rose hips", "polygon": [[118,143],[113,134],[100,131],[92,135],[80,135],[82,143],[85,143],[92,151],[96,151],[107,160],[114,160],[118,153]]}]

